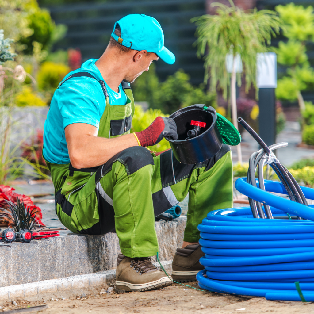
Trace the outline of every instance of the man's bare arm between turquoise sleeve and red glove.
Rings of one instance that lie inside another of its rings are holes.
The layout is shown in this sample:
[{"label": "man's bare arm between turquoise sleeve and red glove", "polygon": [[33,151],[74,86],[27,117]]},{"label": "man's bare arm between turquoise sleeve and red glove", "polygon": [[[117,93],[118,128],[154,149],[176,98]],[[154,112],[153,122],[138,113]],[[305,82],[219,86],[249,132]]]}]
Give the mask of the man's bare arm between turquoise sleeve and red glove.
[{"label": "man's bare arm between turquoise sleeve and red glove", "polygon": [[74,168],[102,165],[122,150],[138,146],[134,134],[101,138],[97,137],[97,133],[96,127],[85,123],[74,123],[65,128],[70,161]]}]

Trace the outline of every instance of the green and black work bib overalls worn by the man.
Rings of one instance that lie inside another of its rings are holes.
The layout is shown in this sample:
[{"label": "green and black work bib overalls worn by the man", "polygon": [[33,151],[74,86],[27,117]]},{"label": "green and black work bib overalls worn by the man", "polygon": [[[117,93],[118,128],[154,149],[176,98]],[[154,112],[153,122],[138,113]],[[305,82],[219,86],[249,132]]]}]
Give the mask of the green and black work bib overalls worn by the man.
[{"label": "green and black work bib overalls worn by the man", "polygon": [[[73,76],[89,76],[88,72]],[[95,78],[96,79],[96,78]],[[62,82],[63,83],[63,82]],[[122,82],[123,84],[124,82]],[[130,133],[134,99],[127,84],[126,105],[111,106],[105,85],[106,108],[98,136]],[[116,231],[121,252],[128,257],[154,256],[158,241],[154,217],[181,202],[189,193],[184,241],[199,240],[197,225],[211,210],[233,205],[232,160],[228,145],[211,159],[195,165],[179,163],[171,150],[159,156],[134,146],[104,165],[75,169],[47,162],[55,187],[56,214],[69,230],[82,234]]]}]

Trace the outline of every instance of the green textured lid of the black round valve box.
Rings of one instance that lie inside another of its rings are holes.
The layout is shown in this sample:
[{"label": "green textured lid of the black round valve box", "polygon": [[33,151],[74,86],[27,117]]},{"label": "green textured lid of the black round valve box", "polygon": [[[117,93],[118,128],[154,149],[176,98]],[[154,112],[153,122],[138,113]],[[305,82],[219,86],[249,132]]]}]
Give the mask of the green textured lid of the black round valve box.
[{"label": "green textured lid of the black round valve box", "polygon": [[[206,110],[208,107],[203,107]],[[224,116],[220,113],[216,112],[217,114],[217,128],[221,135],[222,141],[231,146],[236,146],[241,142],[241,134],[236,129],[236,127]]]}]

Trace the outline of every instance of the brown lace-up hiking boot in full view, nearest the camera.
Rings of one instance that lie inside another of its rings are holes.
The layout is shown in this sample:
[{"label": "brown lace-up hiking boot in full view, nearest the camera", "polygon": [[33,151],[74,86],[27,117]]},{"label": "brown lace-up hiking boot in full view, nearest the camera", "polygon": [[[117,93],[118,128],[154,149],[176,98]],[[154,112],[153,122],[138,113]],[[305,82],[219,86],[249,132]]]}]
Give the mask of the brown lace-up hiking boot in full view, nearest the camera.
[{"label": "brown lace-up hiking boot in full view, nearest the camera", "polygon": [[116,268],[116,292],[148,291],[170,286],[172,280],[158,270],[149,257],[119,254]]}]

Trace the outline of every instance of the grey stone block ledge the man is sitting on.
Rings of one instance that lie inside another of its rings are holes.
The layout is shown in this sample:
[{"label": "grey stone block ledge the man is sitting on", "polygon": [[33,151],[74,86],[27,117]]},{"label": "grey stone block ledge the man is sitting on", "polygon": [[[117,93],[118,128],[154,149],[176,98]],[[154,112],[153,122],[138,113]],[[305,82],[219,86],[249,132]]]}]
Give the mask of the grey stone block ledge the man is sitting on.
[{"label": "grey stone block ledge the man is sitting on", "polygon": [[[176,247],[182,245],[185,225],[185,216],[155,223],[160,261],[172,260]],[[114,269],[120,252],[116,233],[68,234],[30,243],[1,243],[0,287]]]}]

